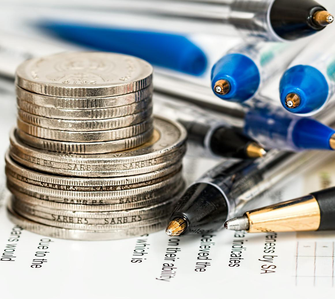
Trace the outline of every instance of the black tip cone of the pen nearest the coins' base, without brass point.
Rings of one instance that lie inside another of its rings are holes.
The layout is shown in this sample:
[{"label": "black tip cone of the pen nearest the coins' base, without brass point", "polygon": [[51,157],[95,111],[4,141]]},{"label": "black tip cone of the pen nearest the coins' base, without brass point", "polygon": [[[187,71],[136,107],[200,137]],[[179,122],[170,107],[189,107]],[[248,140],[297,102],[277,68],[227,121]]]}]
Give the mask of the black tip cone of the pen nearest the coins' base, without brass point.
[{"label": "black tip cone of the pen nearest the coins' base, without brass point", "polygon": [[178,217],[186,220],[183,234],[205,234],[223,227],[227,215],[227,202],[220,190],[211,184],[196,183],[186,190],[170,221]]}]

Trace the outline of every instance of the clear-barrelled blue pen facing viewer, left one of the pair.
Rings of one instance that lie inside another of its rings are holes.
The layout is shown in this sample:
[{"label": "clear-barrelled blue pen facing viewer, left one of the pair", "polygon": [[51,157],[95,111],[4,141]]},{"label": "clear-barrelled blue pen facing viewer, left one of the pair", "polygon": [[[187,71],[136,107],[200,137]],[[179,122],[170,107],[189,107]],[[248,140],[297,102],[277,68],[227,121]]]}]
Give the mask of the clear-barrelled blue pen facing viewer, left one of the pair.
[{"label": "clear-barrelled blue pen facing viewer, left one of the pair", "polygon": [[234,47],[212,68],[213,92],[228,101],[251,99],[262,84],[286,69],[305,44],[253,42]]}]

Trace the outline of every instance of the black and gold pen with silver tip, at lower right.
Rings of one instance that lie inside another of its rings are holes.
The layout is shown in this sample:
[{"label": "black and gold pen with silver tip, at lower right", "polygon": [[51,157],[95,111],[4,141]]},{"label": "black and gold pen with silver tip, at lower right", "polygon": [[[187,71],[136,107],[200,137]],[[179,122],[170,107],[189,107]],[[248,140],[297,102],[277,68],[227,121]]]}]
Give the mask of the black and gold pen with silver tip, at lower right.
[{"label": "black and gold pen with silver tip, at lower right", "polygon": [[276,205],[251,210],[224,227],[248,233],[335,229],[335,187]]}]

